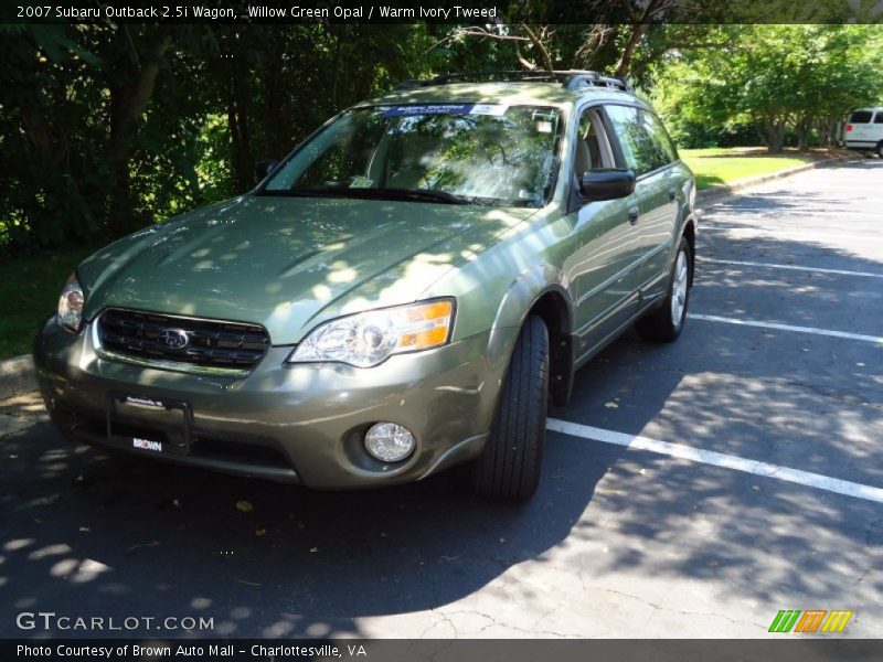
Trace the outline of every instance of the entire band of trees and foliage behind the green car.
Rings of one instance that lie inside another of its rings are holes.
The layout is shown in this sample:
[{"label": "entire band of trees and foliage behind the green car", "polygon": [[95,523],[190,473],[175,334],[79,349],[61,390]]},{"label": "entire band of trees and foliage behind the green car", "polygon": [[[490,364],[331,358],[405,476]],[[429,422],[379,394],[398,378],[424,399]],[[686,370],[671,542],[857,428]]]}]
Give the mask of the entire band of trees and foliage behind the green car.
[{"label": "entire band of trees and foliage behind the green car", "polygon": [[[594,25],[0,26],[0,252],[109,239],[244,192],[256,161],[433,73],[627,67],[688,146],[805,145],[881,96],[877,25],[648,24],[667,3],[591,6]],[[813,7],[843,18],[842,2]]]}]

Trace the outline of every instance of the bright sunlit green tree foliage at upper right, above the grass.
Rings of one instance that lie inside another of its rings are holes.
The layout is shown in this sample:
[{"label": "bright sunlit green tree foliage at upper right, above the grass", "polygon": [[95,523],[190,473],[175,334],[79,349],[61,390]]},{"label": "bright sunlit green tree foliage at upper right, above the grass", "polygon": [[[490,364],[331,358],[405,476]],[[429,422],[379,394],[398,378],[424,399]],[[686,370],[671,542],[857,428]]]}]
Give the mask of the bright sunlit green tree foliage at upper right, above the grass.
[{"label": "bright sunlit green tree foliage at upper right, above the grass", "polygon": [[877,25],[706,26],[696,36],[652,72],[653,100],[687,146],[726,145],[751,127],[772,152],[789,131],[807,147],[813,129],[830,140],[850,109],[883,97]]}]

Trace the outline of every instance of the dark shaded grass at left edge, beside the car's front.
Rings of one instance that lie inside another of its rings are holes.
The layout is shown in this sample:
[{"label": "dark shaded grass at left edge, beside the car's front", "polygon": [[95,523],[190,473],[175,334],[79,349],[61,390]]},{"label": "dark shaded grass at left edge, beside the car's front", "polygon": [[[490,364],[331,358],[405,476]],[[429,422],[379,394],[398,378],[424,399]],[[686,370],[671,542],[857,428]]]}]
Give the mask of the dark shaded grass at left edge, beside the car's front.
[{"label": "dark shaded grass at left edge, beside the car's front", "polygon": [[79,246],[0,257],[0,359],[31,353],[34,335],[55,310],[64,281],[94,249]]}]

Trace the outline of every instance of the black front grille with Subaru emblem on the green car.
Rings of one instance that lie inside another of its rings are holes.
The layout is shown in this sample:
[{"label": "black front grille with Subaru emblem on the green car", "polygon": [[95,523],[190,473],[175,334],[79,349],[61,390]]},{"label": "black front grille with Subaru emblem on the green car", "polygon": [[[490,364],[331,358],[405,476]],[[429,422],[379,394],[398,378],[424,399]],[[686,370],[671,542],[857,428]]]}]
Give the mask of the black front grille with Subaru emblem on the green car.
[{"label": "black front grille with Subaru emblem on the green car", "polygon": [[[184,337],[184,346],[175,346]],[[141,360],[235,370],[256,365],[269,349],[269,335],[258,324],[115,308],[98,318],[98,339],[104,350]]]}]

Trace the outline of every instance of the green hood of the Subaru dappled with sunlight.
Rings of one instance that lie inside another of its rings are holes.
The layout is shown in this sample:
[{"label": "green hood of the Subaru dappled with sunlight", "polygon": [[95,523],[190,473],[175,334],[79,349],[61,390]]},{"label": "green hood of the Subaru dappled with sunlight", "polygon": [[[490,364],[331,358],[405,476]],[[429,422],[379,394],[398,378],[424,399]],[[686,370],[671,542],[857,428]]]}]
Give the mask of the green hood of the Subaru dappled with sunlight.
[{"label": "green hood of the Subaru dappled with sunlight", "polygon": [[121,307],[254,322],[292,344],[327,319],[416,300],[535,211],[242,196],[92,255],[77,269],[85,317]]}]

